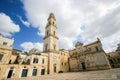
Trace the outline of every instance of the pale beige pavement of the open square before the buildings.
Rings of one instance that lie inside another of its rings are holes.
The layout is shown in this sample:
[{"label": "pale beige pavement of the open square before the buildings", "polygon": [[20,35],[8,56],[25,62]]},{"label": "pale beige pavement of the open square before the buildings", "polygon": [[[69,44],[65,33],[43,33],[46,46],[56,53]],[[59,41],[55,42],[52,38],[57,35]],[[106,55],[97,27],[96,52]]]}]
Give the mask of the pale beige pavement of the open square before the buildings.
[{"label": "pale beige pavement of the open square before the buildings", "polygon": [[120,80],[120,68],[100,71],[57,73],[9,80]]}]

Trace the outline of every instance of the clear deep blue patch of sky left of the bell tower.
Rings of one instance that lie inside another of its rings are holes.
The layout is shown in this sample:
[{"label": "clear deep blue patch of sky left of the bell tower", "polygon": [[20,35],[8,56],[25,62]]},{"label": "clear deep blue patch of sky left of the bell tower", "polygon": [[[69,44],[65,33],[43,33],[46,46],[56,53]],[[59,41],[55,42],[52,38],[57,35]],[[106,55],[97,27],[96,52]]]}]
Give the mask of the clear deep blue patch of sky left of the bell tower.
[{"label": "clear deep blue patch of sky left of the bell tower", "polygon": [[[11,36],[14,38],[14,48],[22,50],[20,44],[28,41],[28,42],[43,42],[41,36],[37,35],[37,28],[33,28],[32,25],[26,27],[18,16],[21,16],[23,20],[27,20],[25,16],[25,10],[23,9],[23,3],[19,0],[0,0],[0,13],[4,13],[9,16],[15,24],[18,24],[20,27],[20,31],[12,34]],[[7,24],[7,22],[6,22]],[[2,26],[1,26],[2,27]]]}]

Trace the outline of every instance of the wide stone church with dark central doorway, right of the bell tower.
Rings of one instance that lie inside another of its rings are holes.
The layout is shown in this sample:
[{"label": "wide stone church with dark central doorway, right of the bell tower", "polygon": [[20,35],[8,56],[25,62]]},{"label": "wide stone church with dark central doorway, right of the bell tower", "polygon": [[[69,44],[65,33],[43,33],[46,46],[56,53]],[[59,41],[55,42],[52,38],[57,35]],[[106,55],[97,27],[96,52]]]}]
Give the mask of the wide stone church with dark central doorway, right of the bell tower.
[{"label": "wide stone church with dark central doorway, right of the bell tower", "polygon": [[70,71],[111,68],[100,39],[87,45],[77,42],[75,49],[70,51],[69,60]]}]

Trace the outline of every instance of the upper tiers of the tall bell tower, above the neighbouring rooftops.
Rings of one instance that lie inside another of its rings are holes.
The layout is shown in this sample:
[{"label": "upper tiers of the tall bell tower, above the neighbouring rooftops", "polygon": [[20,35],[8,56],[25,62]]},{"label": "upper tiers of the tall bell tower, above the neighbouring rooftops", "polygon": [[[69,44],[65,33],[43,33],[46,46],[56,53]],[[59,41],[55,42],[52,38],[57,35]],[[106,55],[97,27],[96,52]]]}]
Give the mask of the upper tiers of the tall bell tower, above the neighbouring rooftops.
[{"label": "upper tiers of the tall bell tower, above the neighbouring rooftops", "polygon": [[56,19],[55,15],[53,13],[50,13],[45,28],[43,52],[57,52],[57,51],[59,51],[59,48]]}]

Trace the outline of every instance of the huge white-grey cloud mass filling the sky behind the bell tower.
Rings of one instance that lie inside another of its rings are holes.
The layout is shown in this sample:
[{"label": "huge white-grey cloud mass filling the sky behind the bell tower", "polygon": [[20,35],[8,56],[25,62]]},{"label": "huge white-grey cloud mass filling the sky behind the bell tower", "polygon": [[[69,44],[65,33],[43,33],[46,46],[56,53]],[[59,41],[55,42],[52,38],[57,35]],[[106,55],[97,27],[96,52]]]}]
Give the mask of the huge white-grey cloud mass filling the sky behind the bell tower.
[{"label": "huge white-grey cloud mass filling the sky behind the bell tower", "polygon": [[[120,42],[119,38],[113,39],[120,31],[120,0],[23,0],[23,4],[29,22],[39,29],[39,35],[44,36],[49,13],[55,13],[60,48],[72,48],[78,36],[86,39],[85,43],[100,37],[107,46],[105,49],[111,50],[111,41]],[[82,25],[86,26],[85,30]]]}]

